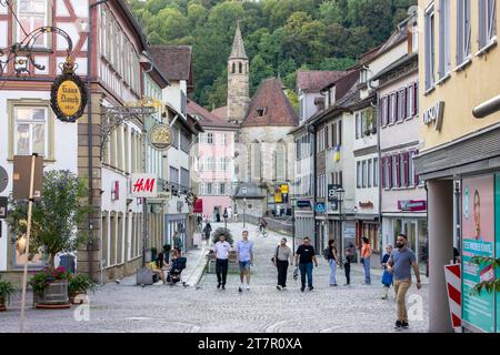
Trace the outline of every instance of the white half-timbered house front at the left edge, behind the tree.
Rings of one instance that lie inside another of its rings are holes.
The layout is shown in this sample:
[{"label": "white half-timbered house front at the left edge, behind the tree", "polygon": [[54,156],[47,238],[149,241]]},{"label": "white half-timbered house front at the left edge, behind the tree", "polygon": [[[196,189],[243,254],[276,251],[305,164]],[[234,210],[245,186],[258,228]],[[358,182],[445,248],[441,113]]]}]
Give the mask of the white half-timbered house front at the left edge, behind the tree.
[{"label": "white half-timbered house front at the left edge, behind the tree", "polygon": [[[16,0],[9,3],[11,8],[4,1],[0,4],[1,49],[22,42],[26,39],[23,30],[30,33],[41,27],[57,27],[63,29],[73,43],[71,58],[77,63],[76,73],[82,78],[87,75],[88,30],[78,20],[88,18],[88,1]],[[8,196],[12,191],[14,155],[39,153],[44,160],[44,171],[79,173],[78,126],[58,120],[50,106],[51,85],[62,73],[58,65],[66,61],[67,49],[68,41],[63,36],[47,32],[34,41],[31,53],[39,67],[22,55],[19,59],[24,61],[1,63],[0,125],[4,129],[0,132],[0,170],[7,172],[7,186],[1,189],[0,196]],[[24,78],[16,78],[16,71],[23,69],[27,70],[21,72]],[[81,120],[86,120],[86,114]],[[27,255],[20,253],[19,243],[11,243],[4,220],[0,220],[0,273],[19,280]],[[29,261],[29,267],[41,267],[43,263],[43,255],[37,254]]]}]

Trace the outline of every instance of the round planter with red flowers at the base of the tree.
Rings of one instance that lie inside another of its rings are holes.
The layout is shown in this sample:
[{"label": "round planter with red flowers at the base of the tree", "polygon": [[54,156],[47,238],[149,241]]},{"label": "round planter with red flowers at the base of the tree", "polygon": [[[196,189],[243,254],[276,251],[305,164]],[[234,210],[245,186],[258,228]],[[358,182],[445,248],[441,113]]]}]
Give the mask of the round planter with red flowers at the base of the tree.
[{"label": "round planter with red flowers at the base of the tree", "polygon": [[33,304],[37,308],[69,308],[68,281],[71,273],[64,267],[46,266],[33,273]]}]

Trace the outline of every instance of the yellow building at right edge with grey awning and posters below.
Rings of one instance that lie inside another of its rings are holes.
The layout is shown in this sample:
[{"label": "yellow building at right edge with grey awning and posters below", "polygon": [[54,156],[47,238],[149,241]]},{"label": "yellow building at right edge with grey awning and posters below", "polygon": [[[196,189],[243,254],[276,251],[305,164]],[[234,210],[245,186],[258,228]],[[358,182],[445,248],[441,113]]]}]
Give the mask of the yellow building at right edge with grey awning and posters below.
[{"label": "yellow building at right edge with grey awning and posters below", "polygon": [[[470,256],[500,255],[500,209],[494,207],[500,206],[497,2],[419,0],[423,55],[419,55],[416,169],[428,191],[431,332],[452,329],[443,266],[453,258],[453,247],[462,258],[461,325],[476,332],[500,328],[500,302],[497,306],[493,302],[500,297],[472,297],[468,292],[486,280],[484,274],[493,274],[482,266],[470,267]],[[488,114],[476,118],[474,109],[488,101]]]}]

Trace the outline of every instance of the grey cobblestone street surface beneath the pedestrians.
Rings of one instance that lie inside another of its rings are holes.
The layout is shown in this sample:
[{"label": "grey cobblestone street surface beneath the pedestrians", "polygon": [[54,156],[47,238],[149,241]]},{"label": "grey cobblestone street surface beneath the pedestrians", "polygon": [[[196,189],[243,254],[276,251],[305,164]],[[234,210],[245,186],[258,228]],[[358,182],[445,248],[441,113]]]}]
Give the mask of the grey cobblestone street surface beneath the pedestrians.
[{"label": "grey cobblestone street surface beneath the pedestrians", "polygon": [[[214,225],[216,226],[216,225]],[[230,229],[240,239],[242,224]],[[76,321],[74,312],[27,311],[28,332],[396,332],[396,303],[380,298],[379,276],[372,285],[361,285],[360,265],[353,265],[351,286],[329,286],[329,266],[319,257],[319,268],[313,271],[314,290],[301,293],[300,281],[293,281],[289,270],[288,291],[276,288],[277,272],[271,265],[274,246],[281,235],[269,233],[257,237],[257,227],[249,225],[250,240],[254,241],[256,261],[252,268],[251,290],[238,292],[239,276],[228,275],[226,291],[216,288],[216,275],[206,274],[193,286],[136,286],[134,276],[120,284],[108,284],[90,295],[90,320]],[[291,239],[289,237],[289,245]],[[192,262],[192,261],[191,261]],[[190,263],[190,260],[188,260]],[[187,275],[182,275],[187,276]],[[338,270],[338,283],[344,283],[343,270]],[[418,296],[414,297],[414,294]],[[410,321],[407,332],[428,331],[427,285],[420,291],[412,285],[408,296],[423,301],[421,321]],[[420,298],[421,296],[422,298]],[[17,297],[19,298],[19,297]],[[28,298],[30,300],[30,298]],[[31,302],[28,302],[31,305]],[[409,305],[410,306],[410,305]],[[411,310],[418,307],[411,307]],[[410,311],[411,313],[411,311]],[[0,313],[0,333],[19,329],[20,302],[16,300],[8,312]]]}]

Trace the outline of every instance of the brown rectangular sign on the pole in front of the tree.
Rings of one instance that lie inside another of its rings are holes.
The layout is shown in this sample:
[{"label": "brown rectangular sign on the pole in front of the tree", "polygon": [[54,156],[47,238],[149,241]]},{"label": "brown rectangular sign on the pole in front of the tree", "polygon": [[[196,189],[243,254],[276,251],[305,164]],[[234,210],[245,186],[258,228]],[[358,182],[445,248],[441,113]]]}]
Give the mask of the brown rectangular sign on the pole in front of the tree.
[{"label": "brown rectangular sign on the pole in front of the tree", "polygon": [[[32,155],[14,155],[12,174],[12,195],[14,200],[28,200],[30,197]],[[34,161],[33,199],[41,197],[43,175],[43,156],[37,156]]]}]

